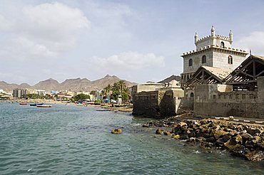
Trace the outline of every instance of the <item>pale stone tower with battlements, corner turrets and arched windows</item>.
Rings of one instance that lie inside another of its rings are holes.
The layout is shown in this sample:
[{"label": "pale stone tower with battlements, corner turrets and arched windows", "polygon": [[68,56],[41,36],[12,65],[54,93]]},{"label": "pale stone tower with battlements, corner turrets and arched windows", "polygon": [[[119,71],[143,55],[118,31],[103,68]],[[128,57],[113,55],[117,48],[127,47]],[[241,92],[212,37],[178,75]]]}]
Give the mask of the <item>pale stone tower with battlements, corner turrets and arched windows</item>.
[{"label": "pale stone tower with battlements, corner turrets and arched windows", "polygon": [[220,36],[212,26],[210,36],[198,38],[194,36],[196,50],[183,53],[183,73],[181,84],[184,85],[200,68],[200,66],[224,68],[234,70],[245,60],[248,53],[244,50],[232,48],[233,33],[229,36]]}]

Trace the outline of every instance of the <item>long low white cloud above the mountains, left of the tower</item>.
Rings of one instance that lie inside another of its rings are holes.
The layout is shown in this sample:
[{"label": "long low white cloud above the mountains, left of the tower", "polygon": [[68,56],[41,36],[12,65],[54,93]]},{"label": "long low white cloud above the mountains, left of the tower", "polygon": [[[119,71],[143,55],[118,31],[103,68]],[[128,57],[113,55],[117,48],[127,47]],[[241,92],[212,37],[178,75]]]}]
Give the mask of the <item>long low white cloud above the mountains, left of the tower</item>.
[{"label": "long low white cloud above the mountains, left of the tower", "polygon": [[148,67],[164,67],[163,56],[156,56],[154,53],[124,52],[118,55],[111,55],[108,58],[93,57],[93,65],[103,68],[118,68],[122,70],[138,70]]}]

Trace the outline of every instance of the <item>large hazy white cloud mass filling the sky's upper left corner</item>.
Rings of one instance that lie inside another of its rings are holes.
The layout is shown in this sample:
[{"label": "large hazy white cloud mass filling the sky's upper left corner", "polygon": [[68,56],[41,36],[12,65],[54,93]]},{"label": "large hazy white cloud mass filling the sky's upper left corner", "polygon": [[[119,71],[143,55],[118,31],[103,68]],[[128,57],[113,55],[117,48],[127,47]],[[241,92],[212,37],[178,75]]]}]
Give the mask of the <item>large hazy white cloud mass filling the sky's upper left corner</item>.
[{"label": "large hazy white cloud mass filling the sky's upper left corner", "polygon": [[0,52],[3,59],[56,58],[76,48],[81,32],[91,28],[80,9],[58,2],[23,5],[13,12],[0,14],[0,46],[9,51],[7,56]]}]

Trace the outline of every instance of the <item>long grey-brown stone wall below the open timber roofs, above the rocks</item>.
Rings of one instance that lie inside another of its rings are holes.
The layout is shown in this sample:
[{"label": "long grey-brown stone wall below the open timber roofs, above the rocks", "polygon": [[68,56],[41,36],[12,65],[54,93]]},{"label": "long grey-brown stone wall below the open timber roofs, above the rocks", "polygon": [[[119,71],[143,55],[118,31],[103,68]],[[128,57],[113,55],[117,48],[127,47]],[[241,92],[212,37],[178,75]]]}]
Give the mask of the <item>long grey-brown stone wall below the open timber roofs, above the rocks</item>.
[{"label": "long grey-brown stone wall below the open timber roofs, above the rocks", "polygon": [[[220,86],[196,86],[196,114],[264,118],[264,78],[258,78],[258,90],[255,91],[220,92]],[[223,90],[222,87],[220,89]]]}]

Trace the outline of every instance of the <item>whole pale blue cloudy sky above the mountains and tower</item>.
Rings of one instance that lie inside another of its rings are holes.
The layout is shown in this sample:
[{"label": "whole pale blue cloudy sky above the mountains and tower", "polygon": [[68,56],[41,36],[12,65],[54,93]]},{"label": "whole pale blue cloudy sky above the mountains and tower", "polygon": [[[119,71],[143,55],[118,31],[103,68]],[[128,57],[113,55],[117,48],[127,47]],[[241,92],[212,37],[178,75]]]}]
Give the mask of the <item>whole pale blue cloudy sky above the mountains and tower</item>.
[{"label": "whole pale blue cloudy sky above the mountains and tower", "polygon": [[105,75],[157,82],[183,71],[194,35],[233,31],[233,48],[264,55],[263,0],[1,0],[0,81]]}]

